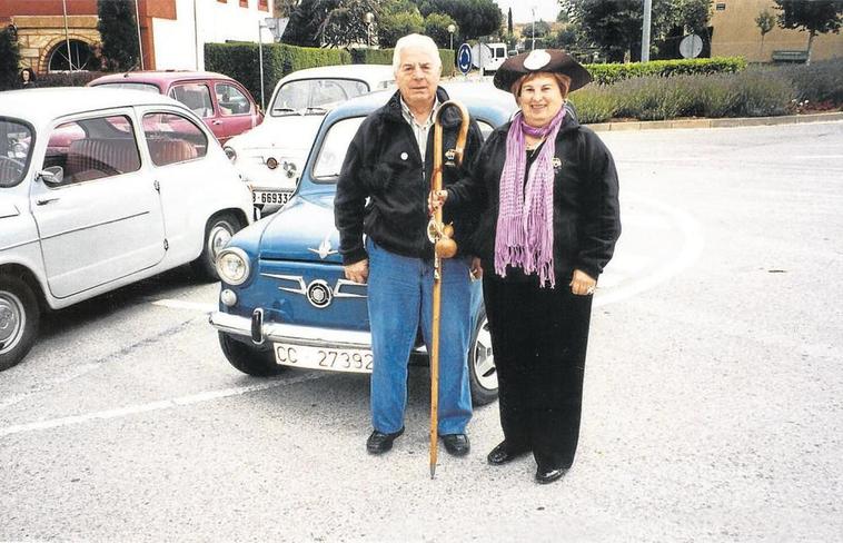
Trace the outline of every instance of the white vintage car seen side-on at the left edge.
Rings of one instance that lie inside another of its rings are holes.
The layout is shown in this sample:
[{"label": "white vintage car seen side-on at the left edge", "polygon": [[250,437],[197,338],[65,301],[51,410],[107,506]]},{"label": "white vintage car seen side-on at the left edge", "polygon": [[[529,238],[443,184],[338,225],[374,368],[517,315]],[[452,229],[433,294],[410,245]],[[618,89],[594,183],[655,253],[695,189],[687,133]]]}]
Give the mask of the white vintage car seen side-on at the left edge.
[{"label": "white vintage car seen side-on at the left edge", "polygon": [[185,106],[126,89],[0,92],[0,371],[41,310],[215,259],[251,223],[248,188]]}]

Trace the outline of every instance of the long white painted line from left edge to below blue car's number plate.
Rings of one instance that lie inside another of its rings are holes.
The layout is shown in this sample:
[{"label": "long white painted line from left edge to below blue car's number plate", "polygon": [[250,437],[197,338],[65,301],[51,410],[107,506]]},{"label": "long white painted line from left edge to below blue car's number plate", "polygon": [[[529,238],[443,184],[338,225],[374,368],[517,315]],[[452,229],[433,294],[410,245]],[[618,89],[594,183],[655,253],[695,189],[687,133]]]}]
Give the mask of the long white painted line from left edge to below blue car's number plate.
[{"label": "long white painted line from left edge to below blue car's number plate", "polygon": [[130,415],[138,415],[141,413],[150,413],[153,411],[171,409],[173,407],[182,405],[194,405],[204,402],[210,402],[212,399],[220,399],[231,396],[241,396],[244,394],[250,394],[252,392],[267,391],[269,388],[276,388],[285,385],[292,385],[298,383],[305,383],[307,381],[318,379],[324,377],[326,372],[313,372],[297,377],[288,379],[270,381],[268,383],[260,383],[250,386],[238,386],[235,388],[222,388],[219,391],[208,391],[189,396],[181,396],[170,399],[161,399],[159,402],[150,402],[148,404],[128,405],[126,407],[118,407],[116,409],[98,411],[95,413],[87,413],[85,415],[66,416],[61,418],[51,418],[48,421],[38,421],[28,424],[16,424],[12,426],[6,426],[0,428],[0,437],[21,434],[24,432],[34,432],[38,430],[59,428],[65,426],[73,426],[77,424],[83,424],[90,421],[107,421],[109,418],[120,418]]}]

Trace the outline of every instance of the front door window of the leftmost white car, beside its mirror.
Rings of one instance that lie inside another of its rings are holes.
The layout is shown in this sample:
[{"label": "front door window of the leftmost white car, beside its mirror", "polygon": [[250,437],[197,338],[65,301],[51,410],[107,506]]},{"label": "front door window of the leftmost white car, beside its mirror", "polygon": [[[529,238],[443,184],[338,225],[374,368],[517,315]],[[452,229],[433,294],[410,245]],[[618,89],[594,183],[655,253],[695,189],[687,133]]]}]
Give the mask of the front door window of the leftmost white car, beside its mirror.
[{"label": "front door window of the leftmost white car, beside its mirror", "polygon": [[92,117],[59,125],[50,134],[43,168],[59,166],[65,185],[140,169],[131,119]]}]

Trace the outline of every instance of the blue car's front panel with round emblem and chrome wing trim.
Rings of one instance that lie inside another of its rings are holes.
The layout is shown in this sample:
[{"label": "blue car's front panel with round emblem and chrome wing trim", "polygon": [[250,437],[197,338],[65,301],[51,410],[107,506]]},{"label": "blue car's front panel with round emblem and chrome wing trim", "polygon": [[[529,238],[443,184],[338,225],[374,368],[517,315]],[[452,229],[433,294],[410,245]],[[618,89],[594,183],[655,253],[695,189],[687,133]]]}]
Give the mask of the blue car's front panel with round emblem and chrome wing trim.
[{"label": "blue car's front panel with round emblem and chrome wing trim", "polygon": [[238,299],[249,315],[262,308],[267,323],[369,329],[366,286],[346,280],[337,264],[261,259]]}]

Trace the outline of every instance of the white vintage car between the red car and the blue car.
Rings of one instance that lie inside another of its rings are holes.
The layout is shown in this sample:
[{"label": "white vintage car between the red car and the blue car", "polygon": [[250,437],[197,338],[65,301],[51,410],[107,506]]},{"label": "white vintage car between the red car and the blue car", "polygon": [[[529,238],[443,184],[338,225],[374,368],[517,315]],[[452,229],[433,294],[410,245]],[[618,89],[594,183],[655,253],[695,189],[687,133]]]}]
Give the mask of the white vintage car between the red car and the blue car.
[{"label": "white vintage car between the red car and the blue car", "polygon": [[329,110],[394,83],[393,67],[384,65],[307,68],[278,81],[264,122],[225,146],[248,181],[255,206],[268,215],[287,203]]}]

